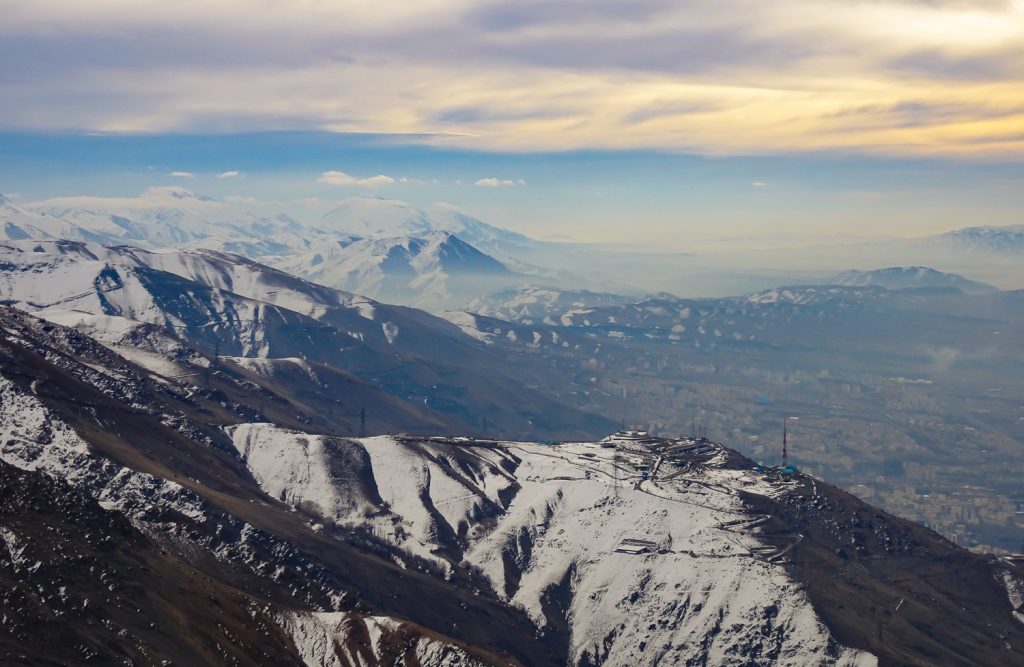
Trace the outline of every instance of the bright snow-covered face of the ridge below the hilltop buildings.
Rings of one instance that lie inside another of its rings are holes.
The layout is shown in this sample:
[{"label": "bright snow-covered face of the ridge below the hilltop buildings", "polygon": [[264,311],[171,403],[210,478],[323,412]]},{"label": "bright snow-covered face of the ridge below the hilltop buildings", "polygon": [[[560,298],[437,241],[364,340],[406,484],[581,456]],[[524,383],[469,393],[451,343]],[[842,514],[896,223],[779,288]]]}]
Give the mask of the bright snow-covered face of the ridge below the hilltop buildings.
[{"label": "bright snow-covered face of the ridge below the hilltop buildings", "polygon": [[[599,444],[338,442],[267,424],[231,433],[267,493],[336,525],[372,526],[439,567],[469,565],[538,626],[565,624],[569,664],[876,662],[836,645],[773,562],[782,550],[748,527],[757,517],[740,490],[786,488],[748,476],[725,455],[681,457],[700,461],[699,471],[662,463],[671,481],[658,484],[618,470],[622,454]],[[338,467],[376,484],[332,484]]]}]

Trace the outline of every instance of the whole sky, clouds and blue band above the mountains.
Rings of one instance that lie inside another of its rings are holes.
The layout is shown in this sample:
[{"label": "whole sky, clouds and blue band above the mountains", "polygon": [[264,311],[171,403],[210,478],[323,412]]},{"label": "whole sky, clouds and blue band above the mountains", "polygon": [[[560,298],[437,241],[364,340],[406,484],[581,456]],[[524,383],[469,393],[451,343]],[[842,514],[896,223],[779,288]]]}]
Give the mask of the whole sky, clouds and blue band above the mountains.
[{"label": "whole sky, clouds and blue band above the mountains", "polygon": [[1024,0],[0,0],[0,16],[14,201],[375,196],[673,247],[1022,222]]}]

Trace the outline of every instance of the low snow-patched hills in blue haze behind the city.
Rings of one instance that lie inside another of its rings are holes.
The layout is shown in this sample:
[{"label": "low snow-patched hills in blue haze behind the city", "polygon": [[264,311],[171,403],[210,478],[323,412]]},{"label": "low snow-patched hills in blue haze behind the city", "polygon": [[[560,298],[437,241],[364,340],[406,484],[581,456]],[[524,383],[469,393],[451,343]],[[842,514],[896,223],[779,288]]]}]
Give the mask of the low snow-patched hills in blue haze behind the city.
[{"label": "low snow-patched hills in blue haze behind the city", "polygon": [[[800,345],[842,352],[866,341],[884,346],[886,340],[912,332],[919,344],[942,346],[962,336],[977,337],[977,323],[984,319],[1014,328],[1024,320],[1021,293],[997,290],[967,294],[949,288],[804,285],[738,297],[687,299],[659,294],[589,306],[572,298],[542,299],[546,293],[560,294],[537,290],[540,302],[535,303],[529,300],[534,290],[510,290],[497,295],[504,295],[504,300],[488,297],[475,303],[499,317],[473,309],[442,317],[493,346],[530,353],[561,350],[560,355],[580,356],[577,361],[583,364],[589,355],[614,356],[611,345],[616,343],[658,342],[706,351]],[[968,311],[977,320],[957,318]],[[630,359],[640,355],[620,353]]]}]

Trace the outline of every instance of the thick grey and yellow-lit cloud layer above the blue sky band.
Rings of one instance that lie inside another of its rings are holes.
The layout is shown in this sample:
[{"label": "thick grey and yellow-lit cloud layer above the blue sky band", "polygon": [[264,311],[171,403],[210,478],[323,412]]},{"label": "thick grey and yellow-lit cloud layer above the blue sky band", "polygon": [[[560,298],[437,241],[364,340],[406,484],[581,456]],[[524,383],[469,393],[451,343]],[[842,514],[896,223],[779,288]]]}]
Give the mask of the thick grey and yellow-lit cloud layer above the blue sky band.
[{"label": "thick grey and yellow-lit cloud layer above the blue sky band", "polygon": [[0,0],[0,126],[1016,155],[1024,0]]}]

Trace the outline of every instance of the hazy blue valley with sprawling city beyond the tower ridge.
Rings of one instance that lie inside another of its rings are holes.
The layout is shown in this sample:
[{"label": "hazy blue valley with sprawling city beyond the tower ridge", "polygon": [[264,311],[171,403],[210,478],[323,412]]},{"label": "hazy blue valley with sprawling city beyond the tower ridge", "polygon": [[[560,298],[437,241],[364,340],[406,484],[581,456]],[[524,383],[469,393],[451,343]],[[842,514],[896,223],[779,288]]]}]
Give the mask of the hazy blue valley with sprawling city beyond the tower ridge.
[{"label": "hazy blue valley with sprawling city beyond the tower ridge", "polygon": [[578,405],[759,461],[778,461],[798,417],[791,453],[822,478],[964,546],[1020,550],[1020,292],[795,287],[542,310],[530,294],[471,304],[513,323],[453,321],[559,367]]}]

